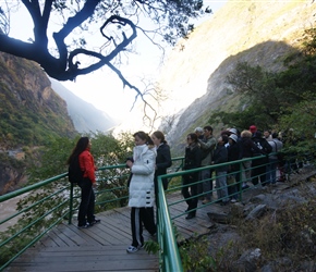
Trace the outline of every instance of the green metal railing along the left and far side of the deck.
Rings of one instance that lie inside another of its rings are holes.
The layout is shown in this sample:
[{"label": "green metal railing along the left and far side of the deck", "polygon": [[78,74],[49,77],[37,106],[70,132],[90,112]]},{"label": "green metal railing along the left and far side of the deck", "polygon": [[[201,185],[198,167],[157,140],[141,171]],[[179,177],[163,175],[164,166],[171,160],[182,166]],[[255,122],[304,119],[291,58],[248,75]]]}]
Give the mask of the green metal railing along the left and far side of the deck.
[{"label": "green metal railing along the left and far side of the deck", "polygon": [[[182,159],[173,158],[174,165],[170,171],[179,171]],[[129,173],[125,164],[102,166],[96,171],[96,209],[111,209],[127,203]],[[53,226],[64,220],[72,223],[73,214],[78,209],[80,188],[70,184],[68,173],[63,173],[0,196],[3,206],[9,206],[9,201],[16,203],[16,210],[0,219],[0,271]]]}]

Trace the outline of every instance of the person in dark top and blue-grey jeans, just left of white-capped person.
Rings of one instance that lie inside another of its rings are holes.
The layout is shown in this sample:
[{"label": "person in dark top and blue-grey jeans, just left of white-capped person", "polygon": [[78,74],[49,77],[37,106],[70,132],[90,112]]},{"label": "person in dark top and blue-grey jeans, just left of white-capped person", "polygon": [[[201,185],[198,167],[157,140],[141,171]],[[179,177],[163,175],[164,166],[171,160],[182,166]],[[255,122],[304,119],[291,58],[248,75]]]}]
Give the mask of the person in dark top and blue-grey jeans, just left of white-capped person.
[{"label": "person in dark top and blue-grey jeans, just left of white-capped person", "polygon": [[[227,143],[227,135],[218,137],[217,146],[214,150],[211,164],[221,164],[228,162],[228,150],[226,147]],[[227,165],[218,166],[215,169],[217,199],[219,199],[221,206],[224,206],[229,202],[227,189]]]}]

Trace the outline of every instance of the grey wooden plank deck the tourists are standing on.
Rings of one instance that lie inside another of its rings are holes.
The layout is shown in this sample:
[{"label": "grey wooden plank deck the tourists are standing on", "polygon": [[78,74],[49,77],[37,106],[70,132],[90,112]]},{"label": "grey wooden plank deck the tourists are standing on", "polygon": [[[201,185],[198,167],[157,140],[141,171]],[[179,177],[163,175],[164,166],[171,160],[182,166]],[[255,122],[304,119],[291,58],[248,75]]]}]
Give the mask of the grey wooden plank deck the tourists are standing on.
[{"label": "grey wooden plank deck the tourists are standing on", "polygon": [[[180,193],[168,196],[168,202],[180,199],[183,199]],[[185,202],[171,206],[171,217],[183,213],[185,209]],[[185,220],[185,215],[175,219],[179,239],[209,232],[212,223],[207,212],[214,209],[224,207],[208,206],[198,210],[195,219]],[[159,271],[158,256],[145,250],[126,252],[132,239],[130,208],[105,211],[97,217],[101,222],[89,228],[78,230],[76,220],[74,224],[64,222],[52,228],[5,271]],[[146,231],[144,237],[150,239]]]}]

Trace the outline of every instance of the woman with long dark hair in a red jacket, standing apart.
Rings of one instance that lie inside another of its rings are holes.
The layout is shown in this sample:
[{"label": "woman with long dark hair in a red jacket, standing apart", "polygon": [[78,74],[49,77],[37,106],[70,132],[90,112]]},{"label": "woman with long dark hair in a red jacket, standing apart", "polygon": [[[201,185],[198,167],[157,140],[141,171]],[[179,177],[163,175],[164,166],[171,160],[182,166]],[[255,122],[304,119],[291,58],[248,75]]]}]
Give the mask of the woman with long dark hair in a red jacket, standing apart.
[{"label": "woman with long dark hair in a red jacket, standing apart", "polygon": [[83,172],[83,180],[77,182],[81,187],[81,203],[78,209],[78,224],[80,228],[89,227],[100,220],[95,218],[95,191],[96,183],[94,157],[90,153],[92,143],[88,137],[81,137],[68,159],[70,164],[76,157],[78,157],[80,168]]}]

